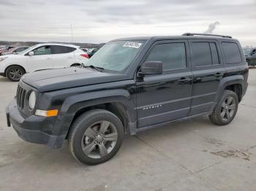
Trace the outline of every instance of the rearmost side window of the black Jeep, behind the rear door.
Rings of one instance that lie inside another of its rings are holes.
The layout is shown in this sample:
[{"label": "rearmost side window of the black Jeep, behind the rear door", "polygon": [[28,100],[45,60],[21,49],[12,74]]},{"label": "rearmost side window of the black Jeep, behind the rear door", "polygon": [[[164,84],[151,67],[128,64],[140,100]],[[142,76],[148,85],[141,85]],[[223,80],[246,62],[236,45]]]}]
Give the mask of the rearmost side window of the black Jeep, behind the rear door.
[{"label": "rearmost side window of the black Jeep, behind the rear door", "polygon": [[222,42],[226,63],[241,63],[242,58],[238,45],[233,42]]}]

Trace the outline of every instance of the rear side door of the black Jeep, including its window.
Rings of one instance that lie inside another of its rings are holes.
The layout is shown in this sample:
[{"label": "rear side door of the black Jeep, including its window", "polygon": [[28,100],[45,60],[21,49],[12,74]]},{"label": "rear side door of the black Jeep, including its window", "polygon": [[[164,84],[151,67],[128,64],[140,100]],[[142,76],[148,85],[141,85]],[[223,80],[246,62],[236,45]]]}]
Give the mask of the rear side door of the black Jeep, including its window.
[{"label": "rear side door of the black Jeep, including its window", "polygon": [[220,59],[216,40],[189,39],[192,55],[193,90],[189,115],[211,111],[217,98],[219,82],[226,69]]}]

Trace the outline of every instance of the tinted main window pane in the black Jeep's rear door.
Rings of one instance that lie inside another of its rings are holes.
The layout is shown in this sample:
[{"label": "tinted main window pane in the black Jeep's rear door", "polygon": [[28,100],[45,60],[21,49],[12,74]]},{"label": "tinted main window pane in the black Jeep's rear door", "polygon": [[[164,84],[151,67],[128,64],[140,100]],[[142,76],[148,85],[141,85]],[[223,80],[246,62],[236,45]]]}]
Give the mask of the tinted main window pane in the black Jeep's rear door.
[{"label": "tinted main window pane in the black Jeep's rear door", "polygon": [[192,59],[195,66],[212,65],[211,49],[208,42],[193,42],[192,50]]}]

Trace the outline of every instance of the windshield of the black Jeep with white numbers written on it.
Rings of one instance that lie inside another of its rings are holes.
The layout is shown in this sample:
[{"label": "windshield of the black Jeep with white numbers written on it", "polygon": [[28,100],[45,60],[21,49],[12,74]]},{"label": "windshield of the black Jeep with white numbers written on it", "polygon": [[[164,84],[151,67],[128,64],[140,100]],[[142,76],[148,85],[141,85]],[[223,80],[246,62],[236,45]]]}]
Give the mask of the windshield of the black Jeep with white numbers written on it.
[{"label": "windshield of the black Jeep with white numbers written on it", "polygon": [[86,65],[101,67],[112,71],[123,71],[143,47],[144,41],[114,41],[108,42]]}]

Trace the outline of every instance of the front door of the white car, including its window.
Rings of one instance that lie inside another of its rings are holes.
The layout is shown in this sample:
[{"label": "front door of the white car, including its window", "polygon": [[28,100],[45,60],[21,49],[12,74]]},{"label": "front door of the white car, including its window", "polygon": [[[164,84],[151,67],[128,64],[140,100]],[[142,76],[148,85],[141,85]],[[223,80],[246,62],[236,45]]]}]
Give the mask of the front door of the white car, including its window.
[{"label": "front door of the white car, including its window", "polygon": [[26,55],[29,72],[53,68],[51,47],[46,45],[32,50],[34,55]]}]

